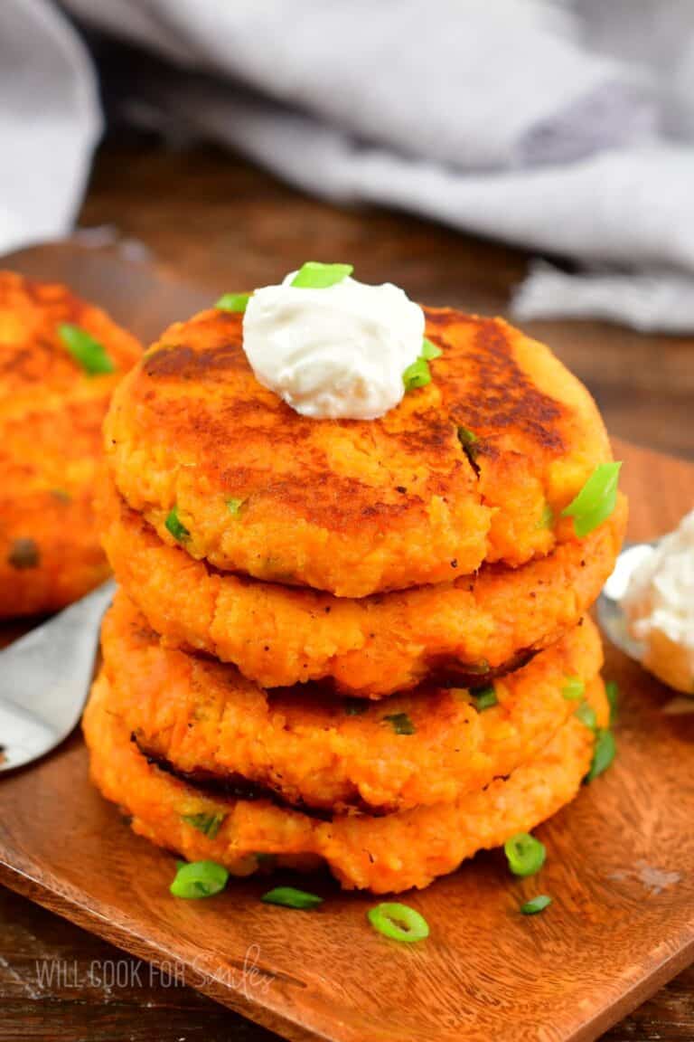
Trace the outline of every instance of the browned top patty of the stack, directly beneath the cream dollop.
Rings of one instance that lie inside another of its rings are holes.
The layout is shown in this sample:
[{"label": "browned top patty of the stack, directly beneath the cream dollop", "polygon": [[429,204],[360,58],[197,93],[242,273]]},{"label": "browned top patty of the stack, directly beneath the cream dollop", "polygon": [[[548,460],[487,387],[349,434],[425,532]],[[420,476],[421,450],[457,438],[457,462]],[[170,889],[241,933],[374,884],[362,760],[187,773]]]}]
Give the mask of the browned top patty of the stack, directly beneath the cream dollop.
[{"label": "browned top patty of the stack, directly beneath the cream dollop", "polygon": [[548,553],[611,458],[592,398],[500,319],[426,316],[433,380],[374,421],[309,419],[261,387],[240,315],[173,325],[109,413],[122,495],[170,543],[175,511],[194,557],[344,597]]}]

